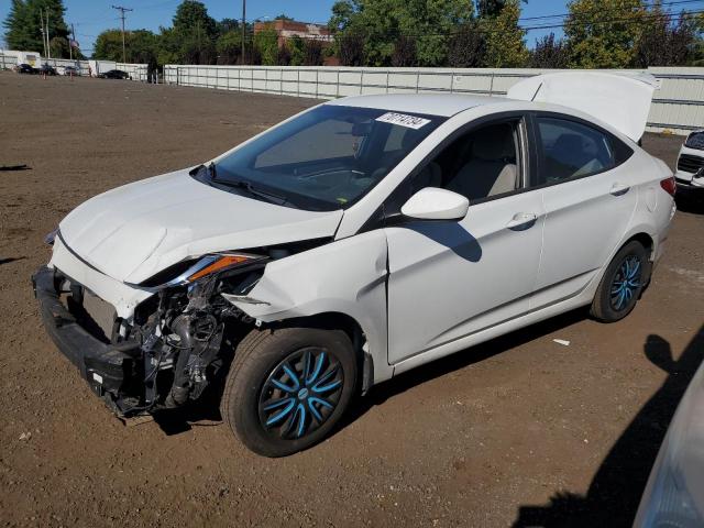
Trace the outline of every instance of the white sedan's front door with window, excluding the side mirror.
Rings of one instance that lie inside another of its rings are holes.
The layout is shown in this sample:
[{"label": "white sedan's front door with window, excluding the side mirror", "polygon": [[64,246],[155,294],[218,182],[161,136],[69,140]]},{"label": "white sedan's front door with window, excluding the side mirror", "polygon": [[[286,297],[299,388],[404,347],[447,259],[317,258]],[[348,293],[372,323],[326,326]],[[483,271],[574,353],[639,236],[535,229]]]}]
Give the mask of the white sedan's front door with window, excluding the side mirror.
[{"label": "white sedan's front door with window, excluding the side mirror", "polygon": [[385,228],[391,364],[528,311],[543,209],[539,189],[521,191],[522,130],[520,119],[483,125],[429,163],[435,186],[470,199],[463,220]]}]

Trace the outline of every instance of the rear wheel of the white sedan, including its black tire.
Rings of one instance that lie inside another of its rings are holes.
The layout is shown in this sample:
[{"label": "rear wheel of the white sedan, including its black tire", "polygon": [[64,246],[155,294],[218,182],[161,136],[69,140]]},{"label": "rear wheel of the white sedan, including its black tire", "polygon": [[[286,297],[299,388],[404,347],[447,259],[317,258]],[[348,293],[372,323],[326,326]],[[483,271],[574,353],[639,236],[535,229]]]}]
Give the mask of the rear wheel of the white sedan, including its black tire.
[{"label": "rear wheel of the white sedan, including its black tire", "polygon": [[628,242],[608,264],[592,301],[591,314],[602,322],[616,322],[636,306],[650,279],[648,252],[638,241]]}]

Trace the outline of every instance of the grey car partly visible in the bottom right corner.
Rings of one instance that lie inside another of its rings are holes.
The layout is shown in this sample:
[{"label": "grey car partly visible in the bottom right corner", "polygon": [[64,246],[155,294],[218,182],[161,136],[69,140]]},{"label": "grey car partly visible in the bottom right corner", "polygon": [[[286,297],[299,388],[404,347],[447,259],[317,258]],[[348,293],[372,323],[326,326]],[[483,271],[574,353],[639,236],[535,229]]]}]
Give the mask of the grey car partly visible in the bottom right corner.
[{"label": "grey car partly visible in the bottom right corner", "polygon": [[[671,374],[672,375],[672,374]],[[704,363],[670,422],[634,528],[704,526]]]}]

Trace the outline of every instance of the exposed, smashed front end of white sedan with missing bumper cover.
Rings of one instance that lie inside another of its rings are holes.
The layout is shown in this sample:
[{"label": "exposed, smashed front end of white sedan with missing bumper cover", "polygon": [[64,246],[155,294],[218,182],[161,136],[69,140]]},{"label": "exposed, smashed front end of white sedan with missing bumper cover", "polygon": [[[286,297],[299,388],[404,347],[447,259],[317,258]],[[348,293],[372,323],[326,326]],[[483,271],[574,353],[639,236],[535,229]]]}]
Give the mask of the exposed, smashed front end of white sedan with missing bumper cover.
[{"label": "exposed, smashed front end of white sedan with missing bumper cover", "polygon": [[227,351],[255,324],[224,295],[246,296],[271,258],[217,253],[165,270],[136,285],[153,288],[154,295],[129,319],[113,317],[109,331],[100,331],[84,306],[90,288],[47,266],[32,282],[58,349],[92,391],[127,418],[180,407],[202,395],[231,359]]}]

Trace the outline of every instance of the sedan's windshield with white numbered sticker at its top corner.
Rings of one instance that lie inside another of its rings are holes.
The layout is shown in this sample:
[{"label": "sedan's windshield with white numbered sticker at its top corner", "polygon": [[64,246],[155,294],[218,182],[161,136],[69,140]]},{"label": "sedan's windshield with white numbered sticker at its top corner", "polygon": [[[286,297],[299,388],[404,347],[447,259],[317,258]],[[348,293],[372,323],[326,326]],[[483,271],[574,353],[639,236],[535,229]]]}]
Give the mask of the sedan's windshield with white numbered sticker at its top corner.
[{"label": "sedan's windshield with white numbered sticker at its top corner", "polygon": [[301,209],[346,208],[444,120],[323,105],[219,160],[210,182]]}]

